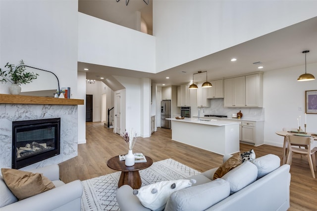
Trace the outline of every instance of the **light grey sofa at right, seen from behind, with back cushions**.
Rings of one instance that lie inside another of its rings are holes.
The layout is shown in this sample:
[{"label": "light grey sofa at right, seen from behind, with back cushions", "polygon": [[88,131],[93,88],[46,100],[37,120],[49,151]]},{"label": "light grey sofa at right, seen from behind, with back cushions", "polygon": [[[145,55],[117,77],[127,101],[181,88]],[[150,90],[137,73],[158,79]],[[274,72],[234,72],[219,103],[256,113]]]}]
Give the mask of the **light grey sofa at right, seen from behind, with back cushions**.
[{"label": "light grey sofa at right, seen from behind, with back cushions", "polygon": [[[229,157],[224,156],[224,162]],[[230,193],[211,186],[216,181],[212,181],[212,177],[218,168],[210,169],[188,178],[196,179],[197,183],[171,194],[165,211],[287,211],[290,207],[290,166],[280,166],[280,159],[271,154],[245,163],[230,170],[221,179],[216,179],[222,185],[228,183]],[[258,176],[252,182],[248,178],[254,177],[255,172]],[[233,193],[234,189],[238,191]],[[223,195],[222,199],[214,202],[213,199],[219,195]],[[133,195],[128,185],[118,189],[116,199],[121,211],[150,211]]]}]

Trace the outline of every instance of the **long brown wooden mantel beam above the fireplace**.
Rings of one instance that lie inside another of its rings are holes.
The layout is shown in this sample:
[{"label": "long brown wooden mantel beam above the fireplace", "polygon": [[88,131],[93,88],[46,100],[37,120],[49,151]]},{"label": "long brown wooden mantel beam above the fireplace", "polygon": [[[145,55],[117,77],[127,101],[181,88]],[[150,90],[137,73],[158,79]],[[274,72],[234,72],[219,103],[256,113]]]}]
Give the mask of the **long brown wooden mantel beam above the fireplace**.
[{"label": "long brown wooden mantel beam above the fireplace", "polygon": [[84,100],[0,94],[0,104],[84,105]]}]

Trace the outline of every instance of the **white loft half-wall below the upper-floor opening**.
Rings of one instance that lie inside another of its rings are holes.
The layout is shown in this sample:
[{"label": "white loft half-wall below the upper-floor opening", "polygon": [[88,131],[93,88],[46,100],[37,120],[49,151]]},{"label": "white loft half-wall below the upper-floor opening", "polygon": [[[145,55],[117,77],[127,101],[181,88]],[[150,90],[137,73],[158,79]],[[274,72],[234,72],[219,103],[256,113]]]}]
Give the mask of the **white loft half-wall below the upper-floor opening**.
[{"label": "white loft half-wall below the upper-floor opening", "polygon": [[78,12],[78,61],[155,72],[155,37]]}]

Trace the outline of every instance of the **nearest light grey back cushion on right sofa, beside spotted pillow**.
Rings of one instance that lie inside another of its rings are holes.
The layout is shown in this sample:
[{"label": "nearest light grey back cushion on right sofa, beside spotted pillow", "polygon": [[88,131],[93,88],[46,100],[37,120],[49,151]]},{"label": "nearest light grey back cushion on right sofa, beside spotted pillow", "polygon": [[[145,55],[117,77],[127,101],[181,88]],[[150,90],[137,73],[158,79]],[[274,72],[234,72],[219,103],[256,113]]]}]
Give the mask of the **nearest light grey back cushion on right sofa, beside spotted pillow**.
[{"label": "nearest light grey back cushion on right sofa, beside spotted pillow", "polygon": [[218,178],[171,194],[164,211],[203,211],[230,194],[229,182]]}]

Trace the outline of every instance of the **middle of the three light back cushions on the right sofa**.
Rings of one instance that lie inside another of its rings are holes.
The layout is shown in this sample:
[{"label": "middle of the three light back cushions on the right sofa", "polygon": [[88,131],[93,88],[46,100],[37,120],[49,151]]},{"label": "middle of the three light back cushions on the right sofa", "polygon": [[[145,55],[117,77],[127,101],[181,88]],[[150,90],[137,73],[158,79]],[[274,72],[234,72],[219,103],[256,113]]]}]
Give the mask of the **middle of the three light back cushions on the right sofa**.
[{"label": "middle of the three light back cushions on the right sofa", "polygon": [[230,170],[221,178],[230,183],[230,194],[233,194],[257,179],[258,168],[249,161]]}]

